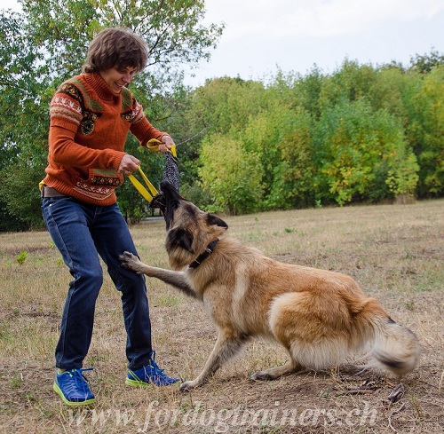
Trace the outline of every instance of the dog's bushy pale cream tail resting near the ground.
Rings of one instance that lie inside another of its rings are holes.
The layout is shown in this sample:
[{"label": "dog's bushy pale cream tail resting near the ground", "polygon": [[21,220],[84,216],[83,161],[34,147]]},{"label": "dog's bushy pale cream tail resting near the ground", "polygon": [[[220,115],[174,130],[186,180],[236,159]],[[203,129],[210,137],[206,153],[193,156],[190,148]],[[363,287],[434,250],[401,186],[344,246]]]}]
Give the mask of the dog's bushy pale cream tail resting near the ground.
[{"label": "dog's bushy pale cream tail resting near the ground", "polygon": [[376,366],[399,379],[413,371],[419,363],[420,344],[417,336],[389,316],[373,320],[375,340],[369,351],[369,366]]}]

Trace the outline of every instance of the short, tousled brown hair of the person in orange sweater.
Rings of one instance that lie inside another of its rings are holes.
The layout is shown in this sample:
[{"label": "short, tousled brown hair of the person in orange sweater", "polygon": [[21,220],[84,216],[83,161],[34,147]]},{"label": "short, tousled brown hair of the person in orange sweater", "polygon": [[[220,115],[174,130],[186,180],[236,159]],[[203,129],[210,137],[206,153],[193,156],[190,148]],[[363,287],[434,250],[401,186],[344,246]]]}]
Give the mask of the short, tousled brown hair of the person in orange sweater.
[{"label": "short, tousled brown hair of the person in orange sweater", "polygon": [[147,66],[147,43],[128,28],[106,28],[92,39],[83,73],[98,73],[111,67],[133,67],[137,72]]}]

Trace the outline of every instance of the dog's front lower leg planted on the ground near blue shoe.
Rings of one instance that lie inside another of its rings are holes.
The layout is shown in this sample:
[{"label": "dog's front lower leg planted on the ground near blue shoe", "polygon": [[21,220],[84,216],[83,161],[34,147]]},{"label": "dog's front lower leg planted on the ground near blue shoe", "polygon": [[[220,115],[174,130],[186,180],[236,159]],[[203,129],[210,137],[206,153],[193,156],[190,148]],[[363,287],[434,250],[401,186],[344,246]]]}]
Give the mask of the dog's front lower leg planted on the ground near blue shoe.
[{"label": "dog's front lower leg planted on the ground near blue shoe", "polygon": [[180,384],[180,391],[190,391],[206,383],[219,367],[222,367],[228,359],[234,357],[249,339],[248,335],[224,335],[219,332],[218,341],[211,351],[210,357],[205,363],[202,372],[193,381]]}]

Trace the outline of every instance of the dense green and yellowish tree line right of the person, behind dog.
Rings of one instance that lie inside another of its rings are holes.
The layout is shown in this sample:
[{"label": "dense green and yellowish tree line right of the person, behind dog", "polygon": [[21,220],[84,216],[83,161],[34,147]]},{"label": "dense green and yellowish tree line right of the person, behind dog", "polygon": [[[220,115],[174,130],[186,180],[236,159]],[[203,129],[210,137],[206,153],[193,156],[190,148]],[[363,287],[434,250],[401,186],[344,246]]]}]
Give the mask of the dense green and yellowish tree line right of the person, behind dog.
[{"label": "dense green and yellowish tree line right of the person, behind dog", "polygon": [[[194,180],[214,209],[242,214],[444,193],[444,62],[345,59],[332,74],[220,78],[191,94]],[[188,145],[190,146],[190,145]]]}]

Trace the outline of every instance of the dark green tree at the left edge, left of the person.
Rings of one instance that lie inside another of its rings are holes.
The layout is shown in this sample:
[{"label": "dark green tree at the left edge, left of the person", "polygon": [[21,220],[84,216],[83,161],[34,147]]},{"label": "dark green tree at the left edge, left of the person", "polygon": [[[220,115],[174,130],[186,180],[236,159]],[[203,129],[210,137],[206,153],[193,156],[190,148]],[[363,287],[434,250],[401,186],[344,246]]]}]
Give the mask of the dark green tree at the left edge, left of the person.
[{"label": "dark green tree at the left edge, left of the person", "polygon": [[20,14],[0,11],[0,59],[0,231],[28,229],[43,225],[37,185],[44,174],[49,97],[35,67],[43,59]]}]

